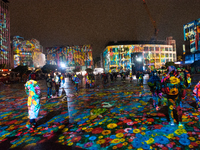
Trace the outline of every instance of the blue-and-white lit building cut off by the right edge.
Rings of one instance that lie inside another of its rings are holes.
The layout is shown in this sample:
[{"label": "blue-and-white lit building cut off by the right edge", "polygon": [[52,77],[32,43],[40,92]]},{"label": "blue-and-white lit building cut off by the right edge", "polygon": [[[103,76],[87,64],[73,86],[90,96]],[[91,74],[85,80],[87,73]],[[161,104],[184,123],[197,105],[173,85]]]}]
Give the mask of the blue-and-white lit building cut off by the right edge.
[{"label": "blue-and-white lit building cut off by the right edge", "polygon": [[[189,51],[191,53],[200,51],[200,18],[184,24],[183,34],[185,45],[189,44]],[[185,53],[183,51],[183,54]]]}]

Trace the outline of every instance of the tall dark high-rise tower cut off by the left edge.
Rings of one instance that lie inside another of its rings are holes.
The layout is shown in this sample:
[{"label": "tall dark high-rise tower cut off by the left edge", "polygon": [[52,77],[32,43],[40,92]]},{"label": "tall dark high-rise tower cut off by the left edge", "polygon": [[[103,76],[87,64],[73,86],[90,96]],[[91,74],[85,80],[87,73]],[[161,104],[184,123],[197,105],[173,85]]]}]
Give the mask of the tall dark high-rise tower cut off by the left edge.
[{"label": "tall dark high-rise tower cut off by the left edge", "polygon": [[0,64],[12,67],[10,47],[10,13],[7,0],[0,0]]}]

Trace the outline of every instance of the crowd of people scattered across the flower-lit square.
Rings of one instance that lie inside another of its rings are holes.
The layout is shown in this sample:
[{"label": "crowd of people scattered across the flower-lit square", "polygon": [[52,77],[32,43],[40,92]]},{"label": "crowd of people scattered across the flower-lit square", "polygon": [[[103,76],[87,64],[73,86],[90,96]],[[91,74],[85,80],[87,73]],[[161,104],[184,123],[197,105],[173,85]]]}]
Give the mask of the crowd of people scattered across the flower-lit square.
[{"label": "crowd of people scattered across the flower-lit square", "polygon": [[[126,74],[121,73],[121,80],[126,79]],[[117,80],[117,73],[102,73],[101,79],[103,86],[108,83],[110,76],[110,81]],[[143,72],[136,73],[137,85],[143,85]],[[61,95],[66,95],[64,86],[65,78],[68,77],[71,82],[73,82],[76,92],[79,91],[79,83],[82,82],[83,76],[78,76],[76,74],[61,74],[58,72],[52,72],[48,74],[46,78],[47,84],[47,97],[51,98],[53,91],[55,95],[59,96],[59,89],[62,88]],[[132,81],[132,76],[130,81]],[[191,88],[191,76],[187,70],[177,71],[174,66],[169,66],[167,72],[160,74],[155,70],[149,74],[149,79],[147,81],[150,91],[152,93],[153,107],[156,110],[160,110],[163,104],[163,98],[167,98],[168,115],[171,125],[174,125],[174,111],[178,116],[178,124],[182,125],[182,101],[186,97],[186,89]],[[86,88],[93,88],[95,86],[95,76],[93,73],[85,74],[85,86]],[[40,109],[40,98],[41,91],[36,81],[36,75],[31,73],[25,84],[25,90],[28,95],[28,113],[29,122],[27,126],[29,128],[34,128],[36,126],[35,119],[38,117]],[[141,91],[142,92],[142,91]],[[194,87],[193,90],[194,98],[196,100],[197,109],[200,111],[200,82]]]}]

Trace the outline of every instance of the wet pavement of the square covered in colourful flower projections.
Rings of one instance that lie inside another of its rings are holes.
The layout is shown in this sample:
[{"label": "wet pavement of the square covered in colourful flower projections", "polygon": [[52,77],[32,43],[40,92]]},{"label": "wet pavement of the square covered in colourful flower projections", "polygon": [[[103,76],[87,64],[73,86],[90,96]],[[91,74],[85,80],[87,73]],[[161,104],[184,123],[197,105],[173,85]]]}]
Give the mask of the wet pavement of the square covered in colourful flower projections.
[{"label": "wet pavement of the square covered in colourful flower projections", "polygon": [[[34,131],[25,126],[24,83],[0,89],[1,150],[200,148],[200,112],[194,108],[191,89],[183,101],[184,126],[171,127],[166,106],[157,112],[148,86],[138,86],[135,80],[130,83],[118,78],[103,87],[97,78],[93,89],[85,89],[83,81],[76,94],[74,85],[66,79],[66,100],[46,99],[45,81],[40,80],[39,85],[43,98]],[[141,97],[140,91],[144,93]]]}]

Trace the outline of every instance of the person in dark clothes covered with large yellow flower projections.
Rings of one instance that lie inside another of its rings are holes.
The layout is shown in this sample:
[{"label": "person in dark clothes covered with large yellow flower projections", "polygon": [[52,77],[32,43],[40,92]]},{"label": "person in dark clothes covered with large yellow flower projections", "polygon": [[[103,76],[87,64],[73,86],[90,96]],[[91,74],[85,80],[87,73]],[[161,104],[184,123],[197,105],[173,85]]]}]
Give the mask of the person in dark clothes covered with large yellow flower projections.
[{"label": "person in dark clothes covered with large yellow flower projections", "polygon": [[176,74],[176,68],[174,66],[169,66],[167,68],[168,74],[162,79],[161,83],[162,92],[167,95],[168,100],[168,115],[170,124],[174,125],[174,115],[173,110],[176,109],[178,116],[178,124],[182,125],[182,100],[185,98],[185,85]]}]

